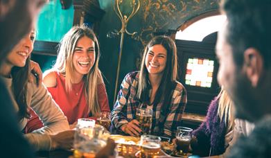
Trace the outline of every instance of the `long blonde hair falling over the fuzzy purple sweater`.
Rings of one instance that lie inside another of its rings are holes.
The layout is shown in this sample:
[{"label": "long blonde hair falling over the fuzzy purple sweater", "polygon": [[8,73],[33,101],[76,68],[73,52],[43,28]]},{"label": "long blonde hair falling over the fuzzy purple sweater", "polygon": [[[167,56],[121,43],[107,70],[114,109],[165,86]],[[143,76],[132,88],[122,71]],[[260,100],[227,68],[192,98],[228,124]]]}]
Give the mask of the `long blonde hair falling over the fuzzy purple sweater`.
[{"label": "long blonde hair falling over the fuzzy purple sweater", "polygon": [[224,119],[229,130],[234,126],[234,103],[224,89],[221,89],[218,98],[218,116],[220,117],[220,121]]}]

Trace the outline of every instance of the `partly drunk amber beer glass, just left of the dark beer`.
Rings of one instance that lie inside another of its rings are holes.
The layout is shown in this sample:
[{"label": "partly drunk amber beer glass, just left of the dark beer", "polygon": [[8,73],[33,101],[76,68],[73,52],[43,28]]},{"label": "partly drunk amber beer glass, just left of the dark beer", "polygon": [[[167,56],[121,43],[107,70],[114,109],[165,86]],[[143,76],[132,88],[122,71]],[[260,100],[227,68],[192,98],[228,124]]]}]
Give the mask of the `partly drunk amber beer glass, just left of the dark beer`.
[{"label": "partly drunk amber beer glass, just left of the dark beer", "polygon": [[141,158],[151,158],[159,155],[161,150],[161,138],[148,134],[143,134],[140,137],[139,149]]}]

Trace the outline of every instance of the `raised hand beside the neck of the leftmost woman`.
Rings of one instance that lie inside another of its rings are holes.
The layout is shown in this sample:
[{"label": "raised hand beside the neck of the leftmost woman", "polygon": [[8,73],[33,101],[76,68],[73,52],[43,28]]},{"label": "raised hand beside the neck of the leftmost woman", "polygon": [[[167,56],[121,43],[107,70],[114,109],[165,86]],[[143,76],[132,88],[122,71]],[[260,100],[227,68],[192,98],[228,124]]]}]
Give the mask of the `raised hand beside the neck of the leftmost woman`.
[{"label": "raised hand beside the neck of the leftmost woman", "polygon": [[33,60],[30,60],[30,70],[31,73],[33,73],[33,76],[29,76],[28,82],[34,82],[34,80],[37,80],[37,87],[39,85],[42,85],[42,69],[40,69],[40,64],[37,64],[37,62],[33,62]]}]

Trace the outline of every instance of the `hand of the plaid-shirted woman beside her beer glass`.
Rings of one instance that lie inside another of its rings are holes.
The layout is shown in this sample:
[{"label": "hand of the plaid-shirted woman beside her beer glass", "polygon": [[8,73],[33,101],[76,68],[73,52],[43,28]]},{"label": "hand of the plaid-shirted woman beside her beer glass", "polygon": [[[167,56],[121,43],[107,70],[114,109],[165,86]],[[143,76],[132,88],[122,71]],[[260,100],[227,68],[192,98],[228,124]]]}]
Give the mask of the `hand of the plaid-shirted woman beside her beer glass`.
[{"label": "hand of the plaid-shirted woman beside her beer glass", "polygon": [[139,121],[136,119],[122,125],[121,130],[131,136],[139,136],[142,133],[142,130],[139,128]]}]

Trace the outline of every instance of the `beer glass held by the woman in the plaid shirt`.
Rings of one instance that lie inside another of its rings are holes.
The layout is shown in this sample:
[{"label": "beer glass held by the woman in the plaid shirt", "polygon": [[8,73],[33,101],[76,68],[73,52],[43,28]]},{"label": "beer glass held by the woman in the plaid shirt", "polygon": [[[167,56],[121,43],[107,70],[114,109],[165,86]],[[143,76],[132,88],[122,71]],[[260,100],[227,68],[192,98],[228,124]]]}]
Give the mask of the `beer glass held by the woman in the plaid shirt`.
[{"label": "beer glass held by the woman in the plaid shirt", "polygon": [[139,121],[143,134],[148,134],[150,132],[150,124],[152,123],[152,109],[137,108],[136,119]]}]

